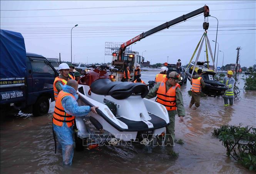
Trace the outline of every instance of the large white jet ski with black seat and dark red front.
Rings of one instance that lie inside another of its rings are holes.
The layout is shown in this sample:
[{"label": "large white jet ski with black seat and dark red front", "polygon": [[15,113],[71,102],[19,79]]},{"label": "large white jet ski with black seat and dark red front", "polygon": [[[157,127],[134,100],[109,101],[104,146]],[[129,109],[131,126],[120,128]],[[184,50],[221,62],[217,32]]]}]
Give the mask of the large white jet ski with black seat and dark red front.
[{"label": "large white jet ski with black seat and dark red front", "polygon": [[[94,66],[79,80],[79,105],[99,106],[98,114],[89,120],[98,130],[105,130],[123,141],[136,141],[141,134],[153,138],[166,134],[169,117],[160,103],[144,98],[149,90],[141,83],[112,82],[107,65]],[[88,131],[76,118],[77,136],[84,138]]]}]

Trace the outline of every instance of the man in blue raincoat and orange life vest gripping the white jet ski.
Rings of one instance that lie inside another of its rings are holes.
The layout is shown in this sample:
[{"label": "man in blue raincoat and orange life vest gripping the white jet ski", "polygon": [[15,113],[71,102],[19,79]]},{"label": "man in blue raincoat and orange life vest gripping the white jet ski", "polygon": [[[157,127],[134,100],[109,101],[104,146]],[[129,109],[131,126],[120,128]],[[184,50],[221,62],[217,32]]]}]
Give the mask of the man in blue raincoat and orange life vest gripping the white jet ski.
[{"label": "man in blue raincoat and orange life vest gripping the white jet ski", "polygon": [[65,165],[71,165],[74,155],[73,126],[75,117],[83,117],[90,111],[96,112],[98,107],[79,106],[77,103],[78,83],[69,80],[58,95],[53,115],[53,129],[58,143],[62,148],[62,160]]}]

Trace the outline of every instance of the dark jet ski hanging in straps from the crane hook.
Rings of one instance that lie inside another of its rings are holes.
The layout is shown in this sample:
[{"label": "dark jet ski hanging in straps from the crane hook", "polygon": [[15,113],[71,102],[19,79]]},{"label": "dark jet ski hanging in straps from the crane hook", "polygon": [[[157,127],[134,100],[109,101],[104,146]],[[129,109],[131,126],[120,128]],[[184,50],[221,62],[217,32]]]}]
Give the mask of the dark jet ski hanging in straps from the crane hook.
[{"label": "dark jet ski hanging in straps from the crane hook", "polygon": [[223,95],[225,90],[227,90],[228,88],[225,87],[224,84],[213,78],[216,72],[214,70],[208,69],[206,63],[206,61],[197,62],[195,70],[192,74],[195,62],[191,62],[189,67],[186,69],[187,78],[189,79],[189,81],[191,81],[191,74],[192,76],[194,76],[197,74],[198,69],[202,69],[201,77],[206,84],[206,86],[202,88],[202,92],[211,97]]}]

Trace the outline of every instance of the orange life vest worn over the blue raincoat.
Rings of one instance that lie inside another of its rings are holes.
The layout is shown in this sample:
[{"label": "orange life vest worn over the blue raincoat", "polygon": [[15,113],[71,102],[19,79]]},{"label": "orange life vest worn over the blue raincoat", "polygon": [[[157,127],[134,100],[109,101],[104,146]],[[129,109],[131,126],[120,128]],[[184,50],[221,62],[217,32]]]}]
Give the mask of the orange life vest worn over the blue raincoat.
[{"label": "orange life vest worn over the blue raincoat", "polygon": [[58,95],[58,99],[55,102],[53,123],[57,126],[62,126],[62,123],[64,122],[64,123],[67,123],[68,127],[70,127],[70,126],[74,125],[75,117],[66,113],[62,106],[61,100],[65,96],[71,96],[71,97],[75,98],[72,94],[64,92],[63,90],[60,91],[60,93]]}]

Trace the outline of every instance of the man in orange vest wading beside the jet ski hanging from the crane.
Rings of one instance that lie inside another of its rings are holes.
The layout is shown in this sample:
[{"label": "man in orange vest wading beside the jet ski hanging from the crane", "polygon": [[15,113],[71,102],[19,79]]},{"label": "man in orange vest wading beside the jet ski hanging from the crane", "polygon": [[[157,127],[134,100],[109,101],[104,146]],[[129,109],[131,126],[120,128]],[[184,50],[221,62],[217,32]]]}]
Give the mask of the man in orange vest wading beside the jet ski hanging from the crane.
[{"label": "man in orange vest wading beside the jet ski hanging from the crane", "polygon": [[[189,108],[192,107],[192,105],[195,104],[196,108],[200,106],[200,97],[201,97],[201,91],[202,88],[205,87],[204,80],[201,77],[202,75],[202,69],[197,70],[197,75],[192,76],[192,79],[190,81],[190,84],[192,85],[191,87],[191,101],[189,103]],[[194,108],[194,110],[196,110]]]}]

